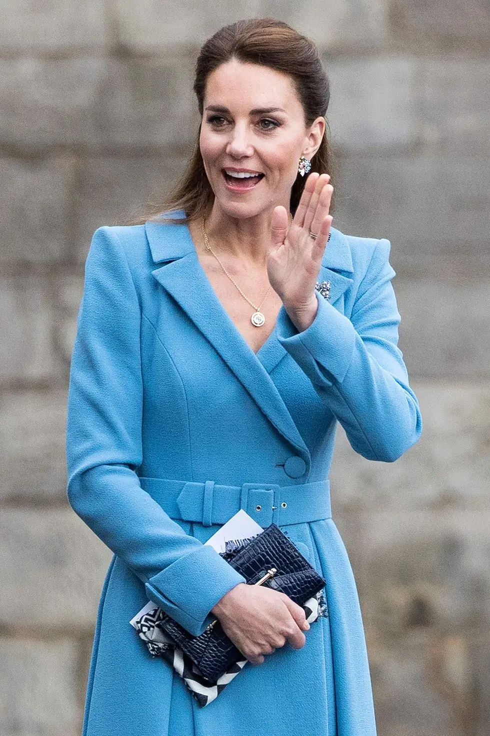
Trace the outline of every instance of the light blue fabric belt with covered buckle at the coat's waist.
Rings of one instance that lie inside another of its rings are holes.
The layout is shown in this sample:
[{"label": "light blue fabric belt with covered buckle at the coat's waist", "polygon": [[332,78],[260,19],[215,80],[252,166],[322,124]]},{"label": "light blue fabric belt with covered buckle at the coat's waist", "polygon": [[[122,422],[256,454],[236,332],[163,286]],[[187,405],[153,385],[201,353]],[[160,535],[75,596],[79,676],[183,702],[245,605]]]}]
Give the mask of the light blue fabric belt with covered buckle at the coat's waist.
[{"label": "light blue fabric belt with covered buckle at the coat's waist", "polygon": [[197,521],[203,526],[224,524],[244,509],[266,528],[330,519],[330,483],[327,479],[296,486],[243,483],[224,486],[215,481],[195,483],[166,478],[141,478],[141,487],[171,519]]}]

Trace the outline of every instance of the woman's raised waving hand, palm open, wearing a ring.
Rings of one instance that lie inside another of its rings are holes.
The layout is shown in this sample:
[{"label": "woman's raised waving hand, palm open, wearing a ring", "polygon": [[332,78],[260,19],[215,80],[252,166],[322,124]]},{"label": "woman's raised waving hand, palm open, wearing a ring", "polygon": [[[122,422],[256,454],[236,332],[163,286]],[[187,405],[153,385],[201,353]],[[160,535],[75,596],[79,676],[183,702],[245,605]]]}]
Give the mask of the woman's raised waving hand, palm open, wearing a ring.
[{"label": "woman's raised waving hand, palm open, wearing a ring", "polygon": [[267,275],[300,330],[311,324],[317,311],[314,287],[333,220],[328,212],[334,187],[329,181],[328,174],[309,175],[291,224],[284,207],[273,211]]}]

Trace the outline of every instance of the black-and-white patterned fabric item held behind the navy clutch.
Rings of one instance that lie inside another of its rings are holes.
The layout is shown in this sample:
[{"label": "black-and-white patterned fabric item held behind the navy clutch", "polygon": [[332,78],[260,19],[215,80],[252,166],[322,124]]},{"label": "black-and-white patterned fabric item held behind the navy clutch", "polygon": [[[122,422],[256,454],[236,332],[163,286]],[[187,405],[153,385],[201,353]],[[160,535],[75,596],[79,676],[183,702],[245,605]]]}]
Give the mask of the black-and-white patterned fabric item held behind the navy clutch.
[{"label": "black-and-white patterned fabric item held behind the navy clutch", "polygon": [[[221,556],[226,559],[227,556],[237,553],[246,542],[248,542],[248,539],[240,539],[238,541],[227,540],[226,551],[220,553]],[[309,598],[301,607],[306,614],[308,623],[313,623],[321,617],[328,617],[324,590],[317,592],[316,595]],[[165,631],[159,626],[159,622],[165,616],[166,614],[161,608],[156,606],[152,601],[149,601],[141,609],[138,618],[131,620],[131,625],[136,629],[140,639],[145,642],[151,657],[163,657],[163,659],[166,659],[181,677],[187,690],[190,690],[198,705],[201,707],[209,705],[224,690],[226,685],[241,672],[242,668],[247,664],[248,659],[244,658],[239,662],[235,662],[230,665],[228,670],[216,682],[210,681],[203,676],[195,663],[192,662],[192,659],[187,657],[181,649],[173,644],[172,640],[167,637]]]}]

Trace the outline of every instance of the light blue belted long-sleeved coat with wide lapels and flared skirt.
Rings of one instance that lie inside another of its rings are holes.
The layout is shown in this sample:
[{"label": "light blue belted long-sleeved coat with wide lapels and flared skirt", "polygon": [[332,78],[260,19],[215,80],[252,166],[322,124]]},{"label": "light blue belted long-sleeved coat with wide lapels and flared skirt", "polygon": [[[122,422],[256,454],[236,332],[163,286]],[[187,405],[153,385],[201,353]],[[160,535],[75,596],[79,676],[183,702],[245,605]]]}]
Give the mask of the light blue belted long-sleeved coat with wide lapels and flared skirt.
[{"label": "light blue belted long-sleeved coat with wide lapels and flared skirt", "polygon": [[[378,461],[399,458],[421,431],[388,256],[386,239],[332,228],[319,277],[330,299],[317,293],[317,316],[300,333],[281,308],[254,354],[187,225],[96,230],[71,364],[68,499],[114,556],[84,736],[375,735],[359,599],[327,478],[337,420],[354,449]],[[158,479],[182,481],[179,499]],[[327,581],[328,618],[311,625],[303,648],[248,663],[200,708],[129,620],[151,599],[203,631],[215,603],[244,581],[203,545],[237,503],[264,527],[278,523],[309,557]]]}]

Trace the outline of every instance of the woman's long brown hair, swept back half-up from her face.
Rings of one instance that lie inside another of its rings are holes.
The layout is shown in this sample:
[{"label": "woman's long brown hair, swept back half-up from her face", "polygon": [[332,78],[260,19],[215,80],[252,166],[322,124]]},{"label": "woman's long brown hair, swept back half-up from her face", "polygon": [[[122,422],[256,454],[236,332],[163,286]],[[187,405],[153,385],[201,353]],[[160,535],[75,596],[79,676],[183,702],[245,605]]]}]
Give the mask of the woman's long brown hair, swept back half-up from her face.
[{"label": "woman's long brown hair, swept back half-up from her face", "polygon": [[[318,116],[325,117],[330,99],[330,85],[314,43],[282,21],[254,18],[224,26],[204,43],[195,65],[194,91],[203,115],[203,99],[209,74],[231,59],[260,64],[289,74],[305,113],[306,124]],[[332,152],[326,135],[311,159],[311,171],[332,176]],[[305,185],[306,177],[298,176],[291,189],[289,208],[294,214]],[[187,169],[170,195],[161,202],[150,203],[142,215],[129,224],[142,224],[159,214],[184,210],[185,219],[165,217],[165,222],[190,222],[207,216],[212,208],[214,193],[204,170],[199,135]],[[333,202],[330,211],[333,211]]]}]

